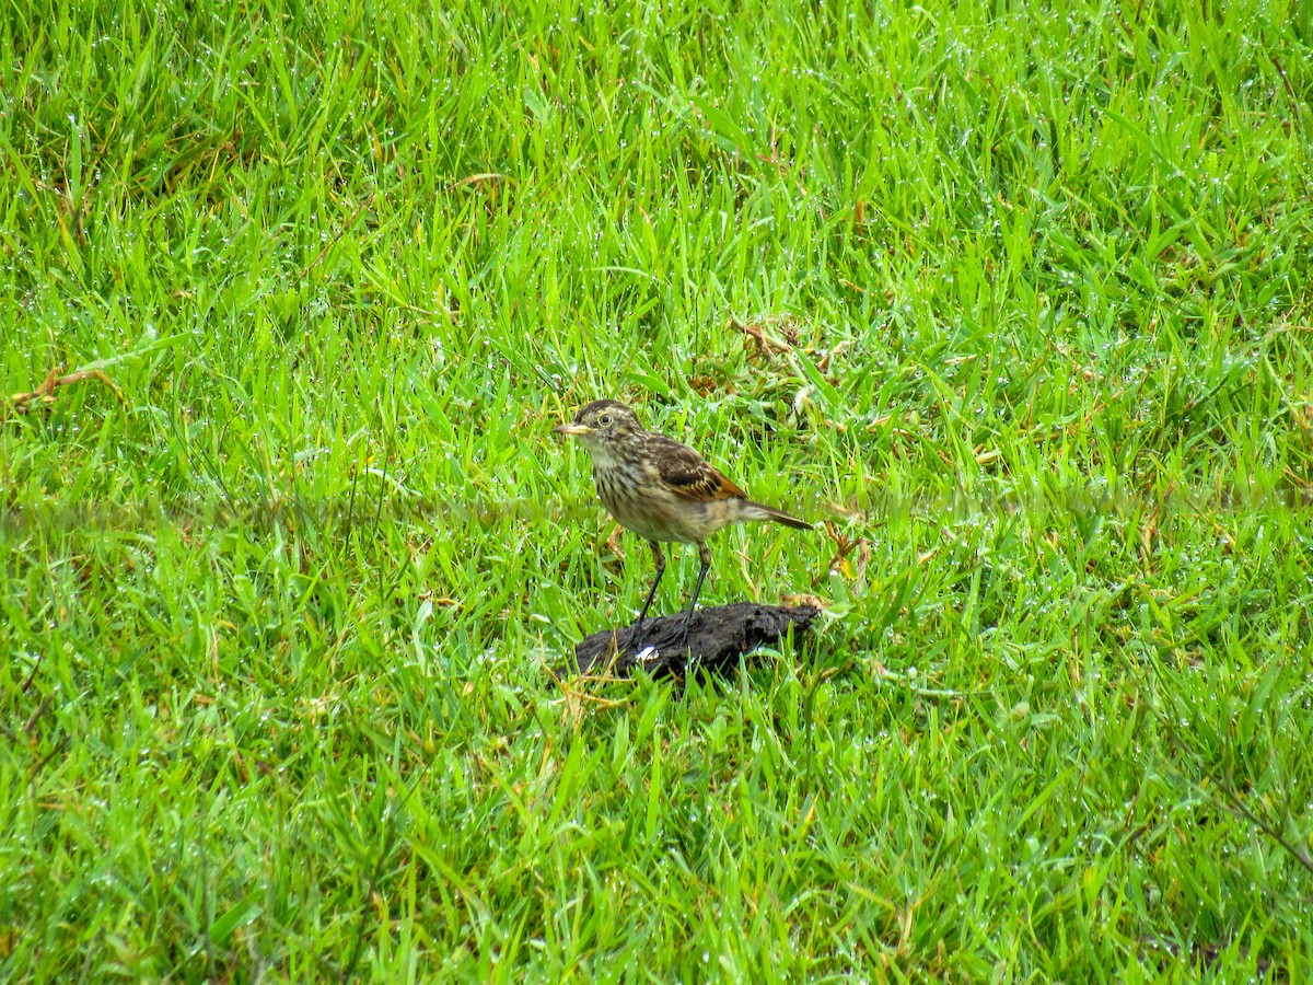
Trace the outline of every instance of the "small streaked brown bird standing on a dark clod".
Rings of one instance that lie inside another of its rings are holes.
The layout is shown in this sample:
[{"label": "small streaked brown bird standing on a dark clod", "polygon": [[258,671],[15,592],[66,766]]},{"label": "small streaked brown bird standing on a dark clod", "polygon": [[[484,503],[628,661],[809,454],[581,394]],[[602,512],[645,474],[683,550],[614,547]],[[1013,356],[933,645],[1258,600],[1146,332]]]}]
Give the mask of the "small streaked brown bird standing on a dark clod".
[{"label": "small streaked brown bird standing on a dark clod", "polygon": [[712,566],[708,537],[731,523],[748,520],[775,520],[800,531],[811,529],[811,524],[783,510],[754,503],[692,448],[655,431],[645,431],[638,416],[616,401],[593,401],[582,407],[570,424],[551,429],[583,443],[592,456],[592,481],[601,504],[621,527],[643,537],[653,549],[656,579],[637,625],[647,617],[656,586],[666,574],[662,541],[696,544],[702,562],[684,617],[687,637],[702,579]]}]

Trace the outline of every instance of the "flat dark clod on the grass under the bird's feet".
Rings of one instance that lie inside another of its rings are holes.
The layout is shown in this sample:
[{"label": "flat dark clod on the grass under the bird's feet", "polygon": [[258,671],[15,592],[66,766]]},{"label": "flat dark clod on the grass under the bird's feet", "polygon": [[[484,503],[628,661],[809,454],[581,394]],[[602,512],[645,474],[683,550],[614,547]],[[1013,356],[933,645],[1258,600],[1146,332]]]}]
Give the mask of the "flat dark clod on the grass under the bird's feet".
[{"label": "flat dark clod on the grass under the bird's feet", "polygon": [[[780,608],[737,602],[693,612],[688,640],[680,645],[684,613],[658,616],[634,626],[603,629],[584,637],[575,647],[580,674],[611,672],[626,678],[642,667],[654,678],[683,678],[689,670],[721,672],[763,644],[773,644],[789,626],[806,632],[819,609],[811,605]],[[567,668],[572,670],[572,668]]]}]

